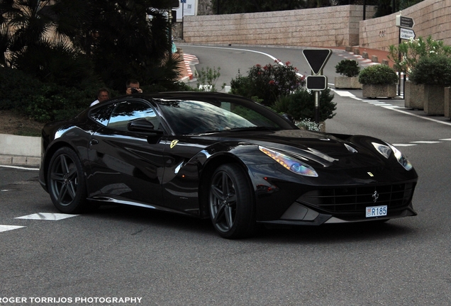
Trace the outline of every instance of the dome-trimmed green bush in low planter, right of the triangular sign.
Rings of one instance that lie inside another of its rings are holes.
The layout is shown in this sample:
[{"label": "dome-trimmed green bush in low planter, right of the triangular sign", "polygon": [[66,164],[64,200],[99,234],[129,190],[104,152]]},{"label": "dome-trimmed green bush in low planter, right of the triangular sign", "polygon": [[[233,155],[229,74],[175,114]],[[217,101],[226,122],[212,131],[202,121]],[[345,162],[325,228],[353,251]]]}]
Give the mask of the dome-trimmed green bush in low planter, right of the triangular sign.
[{"label": "dome-trimmed green bush in low planter, right of the triangular sign", "polygon": [[376,64],[362,69],[359,74],[362,83],[362,95],[367,98],[396,96],[398,75],[386,64]]}]

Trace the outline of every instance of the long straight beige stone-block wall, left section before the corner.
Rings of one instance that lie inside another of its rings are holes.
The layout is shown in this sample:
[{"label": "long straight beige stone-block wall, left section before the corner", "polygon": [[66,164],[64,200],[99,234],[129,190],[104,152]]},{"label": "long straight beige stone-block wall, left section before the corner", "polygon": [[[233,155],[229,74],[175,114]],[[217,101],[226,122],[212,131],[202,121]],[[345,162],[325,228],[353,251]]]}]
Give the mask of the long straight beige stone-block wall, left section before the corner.
[{"label": "long straight beige stone-block wall, left section before the corner", "polygon": [[[366,16],[374,15],[367,6]],[[359,44],[362,6],[187,16],[185,42],[239,45],[347,46]]]}]

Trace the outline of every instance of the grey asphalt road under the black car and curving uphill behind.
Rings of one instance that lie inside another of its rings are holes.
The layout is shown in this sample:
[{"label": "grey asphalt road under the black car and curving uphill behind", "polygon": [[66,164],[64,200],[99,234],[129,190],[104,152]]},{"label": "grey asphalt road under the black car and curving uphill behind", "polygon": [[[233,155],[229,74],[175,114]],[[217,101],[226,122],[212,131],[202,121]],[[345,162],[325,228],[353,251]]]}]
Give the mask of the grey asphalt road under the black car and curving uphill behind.
[{"label": "grey asphalt road under the black car and curving uphill behind", "polygon": [[[220,65],[224,79],[269,58],[183,49]],[[306,65],[300,50],[246,49]],[[339,60],[330,58],[325,75],[333,77]],[[209,221],[138,208],[56,220],[42,214],[57,210],[37,171],[0,166],[0,225],[20,226],[0,232],[0,305],[450,305],[451,122],[406,111],[399,99],[364,100],[361,91],[335,92],[334,101],[327,132],[373,135],[408,155],[420,176],[418,216],[230,241]],[[29,215],[38,220],[17,219]]]}]

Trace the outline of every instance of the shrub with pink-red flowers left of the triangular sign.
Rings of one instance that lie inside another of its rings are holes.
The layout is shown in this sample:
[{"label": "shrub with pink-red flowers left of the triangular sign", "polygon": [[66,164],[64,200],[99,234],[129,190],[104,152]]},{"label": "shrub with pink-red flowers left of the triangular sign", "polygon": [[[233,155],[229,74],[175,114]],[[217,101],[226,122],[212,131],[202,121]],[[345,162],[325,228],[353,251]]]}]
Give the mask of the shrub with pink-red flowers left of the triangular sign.
[{"label": "shrub with pink-red flowers left of the triangular sign", "polygon": [[230,93],[247,98],[257,97],[262,99],[265,106],[272,106],[278,98],[287,96],[304,85],[305,77],[301,77],[298,69],[292,67],[290,62],[276,62],[277,64],[265,66],[256,64],[249,69],[247,77],[238,72],[237,78],[230,81]]}]

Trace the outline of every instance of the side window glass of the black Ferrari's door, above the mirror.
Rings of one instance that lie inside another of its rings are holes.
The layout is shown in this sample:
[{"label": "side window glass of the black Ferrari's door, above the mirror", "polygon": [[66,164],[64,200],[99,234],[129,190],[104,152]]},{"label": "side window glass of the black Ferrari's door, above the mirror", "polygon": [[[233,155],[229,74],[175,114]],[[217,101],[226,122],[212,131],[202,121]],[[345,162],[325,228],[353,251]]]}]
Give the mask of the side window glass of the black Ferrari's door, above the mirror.
[{"label": "side window glass of the black Ferrari's door, above the mirror", "polygon": [[160,125],[160,118],[158,118],[155,110],[140,101],[125,101],[119,103],[111,113],[111,118],[108,121],[108,128],[115,130],[127,130],[127,124],[130,120],[144,118],[155,127],[157,130]]}]

